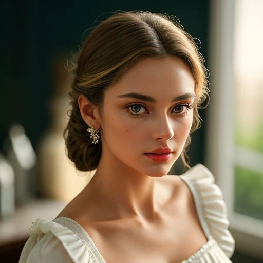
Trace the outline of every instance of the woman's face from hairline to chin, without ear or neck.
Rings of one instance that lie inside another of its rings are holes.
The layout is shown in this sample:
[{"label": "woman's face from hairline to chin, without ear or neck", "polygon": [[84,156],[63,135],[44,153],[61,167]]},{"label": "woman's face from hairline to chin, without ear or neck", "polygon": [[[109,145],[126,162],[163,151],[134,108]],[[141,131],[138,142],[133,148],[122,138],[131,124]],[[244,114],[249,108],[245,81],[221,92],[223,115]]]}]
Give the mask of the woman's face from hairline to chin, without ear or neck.
[{"label": "woman's face from hairline to chin, without ear or neck", "polygon": [[195,82],[181,59],[139,61],[104,93],[102,156],[141,174],[166,175],[189,135],[194,101]]}]

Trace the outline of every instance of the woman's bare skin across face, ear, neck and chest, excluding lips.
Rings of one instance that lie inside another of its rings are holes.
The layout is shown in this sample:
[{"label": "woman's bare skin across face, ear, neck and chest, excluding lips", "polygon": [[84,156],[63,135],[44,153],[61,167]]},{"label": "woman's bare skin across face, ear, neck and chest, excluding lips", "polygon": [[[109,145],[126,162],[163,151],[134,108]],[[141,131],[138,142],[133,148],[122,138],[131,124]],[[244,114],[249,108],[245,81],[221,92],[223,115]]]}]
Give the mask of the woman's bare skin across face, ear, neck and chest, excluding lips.
[{"label": "woman's bare skin across face, ear, neck and chest, excluding lips", "polygon": [[[100,129],[102,156],[59,216],[79,222],[107,263],[180,263],[207,242],[190,190],[167,175],[189,135],[194,101],[192,73],[176,57],[139,61],[106,89],[100,109],[79,97],[83,120]],[[157,148],[171,149],[168,160],[147,156]]]}]

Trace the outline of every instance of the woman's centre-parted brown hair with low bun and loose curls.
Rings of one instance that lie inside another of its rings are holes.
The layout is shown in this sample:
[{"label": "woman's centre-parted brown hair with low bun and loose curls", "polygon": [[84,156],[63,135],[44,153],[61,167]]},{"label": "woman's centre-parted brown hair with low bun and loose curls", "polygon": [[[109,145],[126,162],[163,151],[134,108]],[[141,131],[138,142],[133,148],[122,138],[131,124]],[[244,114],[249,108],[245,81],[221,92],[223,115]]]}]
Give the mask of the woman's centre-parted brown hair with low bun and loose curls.
[{"label": "woman's centre-parted brown hair with low bun and loose curls", "polygon": [[[72,89],[69,93],[71,110],[64,132],[68,157],[81,171],[97,168],[101,157],[101,142],[94,145],[87,136],[78,97],[85,95],[100,106],[106,88],[114,84],[135,61],[143,58],[175,56],[185,61],[195,80],[196,102],[190,133],[200,126],[198,107],[208,94],[204,60],[193,38],[179,23],[163,14],[149,12],[116,13],[91,31],[76,57]],[[187,138],[181,158],[186,166]]]}]

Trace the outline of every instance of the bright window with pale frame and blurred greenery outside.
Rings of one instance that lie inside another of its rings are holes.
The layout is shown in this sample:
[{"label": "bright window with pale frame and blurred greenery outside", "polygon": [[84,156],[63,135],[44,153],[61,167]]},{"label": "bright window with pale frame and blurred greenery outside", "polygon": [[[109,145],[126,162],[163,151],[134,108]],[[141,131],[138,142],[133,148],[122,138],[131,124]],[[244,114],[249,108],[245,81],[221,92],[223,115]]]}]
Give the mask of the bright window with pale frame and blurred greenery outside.
[{"label": "bright window with pale frame and blurred greenery outside", "polygon": [[237,249],[263,256],[263,2],[211,1],[206,165]]}]

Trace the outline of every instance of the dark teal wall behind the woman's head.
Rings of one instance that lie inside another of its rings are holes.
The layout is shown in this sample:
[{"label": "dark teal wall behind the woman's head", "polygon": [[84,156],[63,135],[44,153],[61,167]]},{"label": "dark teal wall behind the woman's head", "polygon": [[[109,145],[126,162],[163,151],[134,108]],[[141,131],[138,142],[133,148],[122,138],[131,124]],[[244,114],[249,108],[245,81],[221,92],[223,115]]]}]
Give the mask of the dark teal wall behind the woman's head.
[{"label": "dark teal wall behind the woman's head", "polygon": [[[20,122],[33,146],[49,127],[47,102],[53,94],[51,67],[58,53],[70,53],[96,18],[115,10],[164,12],[180,18],[202,42],[207,60],[209,1],[40,1],[5,0],[1,4],[0,148],[11,123]],[[102,16],[102,18],[105,17]],[[205,115],[201,112],[205,119]],[[193,136],[191,164],[203,162],[204,125]],[[197,154],[196,154],[197,153]]]}]

